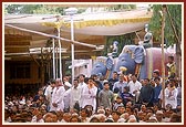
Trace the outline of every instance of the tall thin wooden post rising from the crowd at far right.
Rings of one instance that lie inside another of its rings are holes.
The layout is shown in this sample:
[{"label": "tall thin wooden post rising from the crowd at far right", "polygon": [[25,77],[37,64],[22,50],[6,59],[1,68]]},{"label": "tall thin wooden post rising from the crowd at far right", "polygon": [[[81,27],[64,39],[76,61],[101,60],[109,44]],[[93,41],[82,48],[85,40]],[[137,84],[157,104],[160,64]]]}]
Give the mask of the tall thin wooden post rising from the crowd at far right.
[{"label": "tall thin wooden post rising from the crowd at far right", "polygon": [[164,29],[165,29],[165,12],[166,12],[166,6],[163,4],[163,15],[162,15],[162,77],[163,77],[163,83],[162,83],[162,94],[163,94],[163,99],[162,99],[162,106],[165,108],[165,53],[164,53]]}]

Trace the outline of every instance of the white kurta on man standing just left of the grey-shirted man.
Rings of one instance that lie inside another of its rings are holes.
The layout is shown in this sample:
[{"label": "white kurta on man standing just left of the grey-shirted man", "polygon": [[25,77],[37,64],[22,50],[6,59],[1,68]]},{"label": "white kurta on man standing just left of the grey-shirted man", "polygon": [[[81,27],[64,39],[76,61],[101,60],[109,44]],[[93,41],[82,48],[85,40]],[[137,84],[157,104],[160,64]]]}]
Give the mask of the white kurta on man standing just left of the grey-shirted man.
[{"label": "white kurta on man standing just left of the grey-shirted man", "polygon": [[86,105],[92,105],[93,110],[96,108],[96,93],[97,93],[97,87],[93,86],[92,88],[89,89],[87,85],[82,88],[82,94],[81,94],[81,100],[82,104],[81,106],[84,108]]}]

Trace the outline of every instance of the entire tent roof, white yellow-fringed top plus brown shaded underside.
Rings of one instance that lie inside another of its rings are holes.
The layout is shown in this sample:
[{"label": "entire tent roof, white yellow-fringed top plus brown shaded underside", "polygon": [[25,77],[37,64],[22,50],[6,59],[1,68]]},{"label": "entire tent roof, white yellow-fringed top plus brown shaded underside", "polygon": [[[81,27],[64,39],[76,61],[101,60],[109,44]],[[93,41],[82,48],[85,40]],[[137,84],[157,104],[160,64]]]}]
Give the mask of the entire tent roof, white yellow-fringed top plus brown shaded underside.
[{"label": "entire tent roof, white yellow-fringed top plus brown shaded underside", "polygon": [[[106,35],[121,35],[144,29],[151,20],[152,13],[147,10],[133,10],[125,12],[82,13],[73,15],[75,41],[104,45]],[[60,28],[61,38],[71,39],[69,15],[33,15],[7,14],[4,23],[56,35],[54,28]],[[4,27],[4,50],[7,53],[29,52],[31,47],[44,47],[50,38],[35,33],[20,31]],[[61,41],[62,47],[71,52],[70,43]],[[97,50],[75,44],[75,55],[94,55]],[[66,53],[66,54],[68,54]],[[89,54],[87,54],[89,53]],[[65,53],[64,53],[65,54]]]}]

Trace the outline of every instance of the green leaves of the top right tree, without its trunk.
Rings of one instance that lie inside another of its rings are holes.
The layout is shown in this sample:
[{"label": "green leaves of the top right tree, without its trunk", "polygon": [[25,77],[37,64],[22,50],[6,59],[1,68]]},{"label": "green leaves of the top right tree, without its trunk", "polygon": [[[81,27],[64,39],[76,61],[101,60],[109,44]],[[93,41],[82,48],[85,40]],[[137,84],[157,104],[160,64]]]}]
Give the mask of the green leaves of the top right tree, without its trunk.
[{"label": "green leaves of the top right tree, without its trunk", "polygon": [[[161,43],[161,29],[162,29],[162,4],[152,6],[153,9],[153,18],[149,22],[149,30],[153,33],[154,41]],[[170,13],[170,18],[176,28],[177,35],[179,40],[182,39],[182,4],[167,4],[167,9]],[[168,14],[165,15],[165,40],[167,46],[176,43],[176,36],[173,32],[170,20]]]}]

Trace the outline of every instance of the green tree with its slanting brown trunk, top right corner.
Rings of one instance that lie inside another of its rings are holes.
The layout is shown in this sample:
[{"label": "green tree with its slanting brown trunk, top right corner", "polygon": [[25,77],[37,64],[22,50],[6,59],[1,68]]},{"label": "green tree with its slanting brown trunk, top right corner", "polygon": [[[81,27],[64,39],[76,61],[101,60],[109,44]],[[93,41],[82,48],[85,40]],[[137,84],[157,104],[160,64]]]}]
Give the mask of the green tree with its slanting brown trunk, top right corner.
[{"label": "green tree with its slanting brown trunk, top right corner", "polygon": [[[182,4],[166,4],[166,15],[165,15],[165,40],[166,46],[176,44],[176,75],[180,80],[180,61],[182,51],[180,42],[182,40]],[[149,22],[149,30],[153,33],[154,41],[161,44],[161,29],[162,29],[162,4],[152,6],[153,18]]]}]

